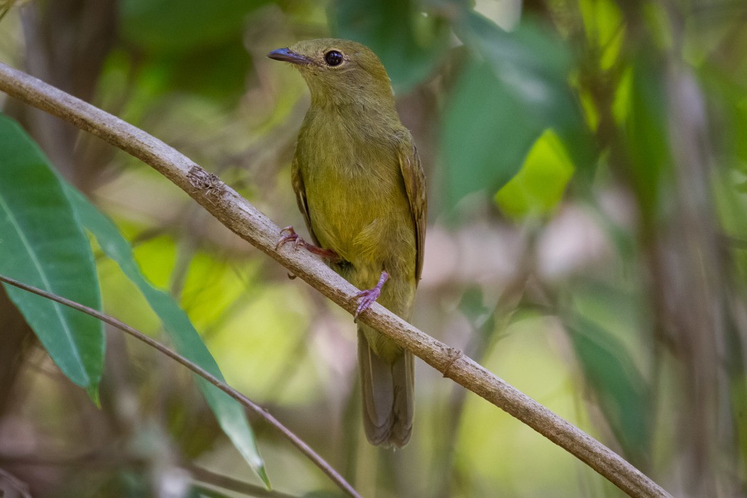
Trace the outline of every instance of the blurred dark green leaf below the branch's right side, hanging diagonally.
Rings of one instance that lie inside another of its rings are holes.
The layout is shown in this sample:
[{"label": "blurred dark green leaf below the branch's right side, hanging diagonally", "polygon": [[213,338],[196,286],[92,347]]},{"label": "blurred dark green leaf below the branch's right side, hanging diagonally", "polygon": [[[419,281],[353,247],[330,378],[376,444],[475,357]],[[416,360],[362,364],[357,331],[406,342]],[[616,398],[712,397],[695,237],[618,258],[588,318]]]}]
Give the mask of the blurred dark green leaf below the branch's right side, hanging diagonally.
[{"label": "blurred dark green leaf below the branch's right side, hanging diagonally", "polygon": [[580,314],[574,314],[568,329],[584,379],[626,458],[647,467],[654,429],[651,396],[630,352],[607,329]]}]

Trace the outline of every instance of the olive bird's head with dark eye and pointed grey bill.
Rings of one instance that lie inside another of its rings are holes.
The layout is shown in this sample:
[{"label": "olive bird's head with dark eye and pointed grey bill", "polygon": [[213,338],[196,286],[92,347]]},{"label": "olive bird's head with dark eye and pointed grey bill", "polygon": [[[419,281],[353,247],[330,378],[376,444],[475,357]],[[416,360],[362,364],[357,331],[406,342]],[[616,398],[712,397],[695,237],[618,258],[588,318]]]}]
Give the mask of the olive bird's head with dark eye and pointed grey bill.
[{"label": "olive bird's head with dark eye and pointed grey bill", "polygon": [[306,40],[273,50],[267,57],[297,67],[311,90],[312,105],[394,105],[384,66],[360,43],[334,38]]}]

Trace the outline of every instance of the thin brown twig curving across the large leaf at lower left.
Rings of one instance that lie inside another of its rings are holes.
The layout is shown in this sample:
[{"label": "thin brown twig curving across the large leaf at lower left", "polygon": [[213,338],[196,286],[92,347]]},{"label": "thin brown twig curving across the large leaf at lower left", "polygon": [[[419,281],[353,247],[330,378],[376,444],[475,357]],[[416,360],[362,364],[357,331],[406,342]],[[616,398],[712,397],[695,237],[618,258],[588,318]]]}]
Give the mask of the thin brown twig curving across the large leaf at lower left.
[{"label": "thin brown twig curving across the large leaf at lower left", "polygon": [[209,373],[207,370],[203,369],[199,365],[192,363],[191,361],[187,360],[187,358],[185,358],[184,356],[179,355],[179,353],[173,352],[171,349],[159,343],[157,340],[154,340],[148,337],[146,334],[143,334],[142,332],[136,329],[133,329],[131,326],[128,326],[126,323],[120,322],[120,320],[117,320],[116,318],[111,317],[108,314],[102,313],[101,311],[96,311],[95,309],[89,308],[86,305],[81,305],[79,302],[71,301],[70,299],[66,299],[62,296],[58,296],[57,294],[47,292],[46,290],[38,289],[37,287],[32,287],[31,285],[24,284],[21,281],[17,281],[13,278],[10,278],[4,275],[0,275],[0,281],[5,282],[6,284],[13,285],[13,287],[19,287],[19,289],[27,290],[28,292],[37,294],[38,296],[46,297],[46,299],[51,299],[52,301],[59,302],[61,305],[69,306],[70,308],[74,308],[78,311],[81,311],[85,314],[90,315],[91,317],[95,317],[104,323],[108,323],[109,325],[117,329],[120,329],[121,331],[127,334],[130,334],[132,337],[135,337],[137,340],[142,340],[144,343],[148,344],[152,348],[157,349],[158,352],[161,352],[164,355],[167,355],[169,358],[172,358],[174,361],[178,362],[179,364],[184,365],[189,370],[192,370],[194,373],[196,373],[203,379],[207,380],[212,385],[222,390],[224,393],[228,394],[236,401],[240,402],[241,405],[244,405],[246,408],[249,408],[249,410],[251,410],[254,414],[263,418],[267,423],[269,423],[271,426],[277,429],[282,435],[284,435],[285,438],[288,438],[288,441],[291,441],[291,443],[293,443],[294,446],[300,449],[300,451],[303,452],[303,454],[306,455],[309,458],[309,460],[313,461],[314,464],[317,467],[319,467],[323,473],[329,476],[329,479],[332,479],[332,481],[334,481],[335,484],[338,485],[343,491],[345,491],[351,497],[360,498],[360,495],[353,488],[353,486],[348,484],[348,482],[340,474],[338,474],[337,471],[332,468],[332,466],[330,466],[322,457],[317,455],[317,452],[314,452],[314,450],[311,449],[311,446],[306,444],[303,440],[301,440],[301,438],[299,438],[297,435],[291,432],[290,429],[282,425],[282,423],[280,423],[279,420],[273,417],[267,410],[257,405],[251,399],[247,398],[247,396],[244,396],[244,394],[238,392],[238,390],[235,390],[233,387],[227,385],[225,382],[221,382],[220,379],[218,379],[216,376]]}]

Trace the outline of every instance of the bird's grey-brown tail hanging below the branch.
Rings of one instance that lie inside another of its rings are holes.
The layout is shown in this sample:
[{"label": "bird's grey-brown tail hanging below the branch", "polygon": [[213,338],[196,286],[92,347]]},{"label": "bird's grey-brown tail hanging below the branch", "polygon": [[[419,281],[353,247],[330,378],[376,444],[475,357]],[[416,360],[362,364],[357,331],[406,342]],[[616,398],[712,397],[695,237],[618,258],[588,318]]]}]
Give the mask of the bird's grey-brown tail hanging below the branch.
[{"label": "bird's grey-brown tail hanging below the branch", "polygon": [[[366,437],[371,444],[401,448],[410,440],[412,433],[415,361],[412,353],[406,349],[391,355],[391,361],[387,361],[388,358],[373,352],[366,335],[359,327],[358,362]],[[384,337],[381,339],[388,340]]]}]

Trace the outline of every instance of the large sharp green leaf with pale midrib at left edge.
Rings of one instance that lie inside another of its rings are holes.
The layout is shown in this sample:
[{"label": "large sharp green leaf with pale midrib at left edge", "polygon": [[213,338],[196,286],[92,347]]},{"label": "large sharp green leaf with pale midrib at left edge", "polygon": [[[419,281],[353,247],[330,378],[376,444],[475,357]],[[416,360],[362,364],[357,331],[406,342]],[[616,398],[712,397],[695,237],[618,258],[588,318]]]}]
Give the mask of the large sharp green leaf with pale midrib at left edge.
[{"label": "large sharp green leaf with pale midrib at left edge", "polygon": [[[52,166],[13,119],[0,115],[0,273],[97,310],[93,252]],[[5,286],[49,356],[97,399],[102,323],[57,302]]]}]

